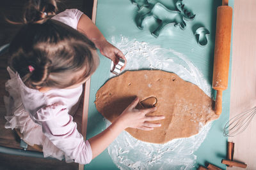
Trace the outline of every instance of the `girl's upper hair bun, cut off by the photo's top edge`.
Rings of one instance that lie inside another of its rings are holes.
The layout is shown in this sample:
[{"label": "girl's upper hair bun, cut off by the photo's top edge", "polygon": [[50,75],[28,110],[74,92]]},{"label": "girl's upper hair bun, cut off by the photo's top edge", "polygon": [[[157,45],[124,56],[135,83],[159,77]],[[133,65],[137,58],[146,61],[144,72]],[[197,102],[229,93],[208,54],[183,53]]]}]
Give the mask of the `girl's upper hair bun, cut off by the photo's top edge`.
[{"label": "girl's upper hair bun, cut off by the photo's top edge", "polygon": [[24,23],[42,24],[56,15],[57,10],[55,0],[29,0],[24,9]]}]

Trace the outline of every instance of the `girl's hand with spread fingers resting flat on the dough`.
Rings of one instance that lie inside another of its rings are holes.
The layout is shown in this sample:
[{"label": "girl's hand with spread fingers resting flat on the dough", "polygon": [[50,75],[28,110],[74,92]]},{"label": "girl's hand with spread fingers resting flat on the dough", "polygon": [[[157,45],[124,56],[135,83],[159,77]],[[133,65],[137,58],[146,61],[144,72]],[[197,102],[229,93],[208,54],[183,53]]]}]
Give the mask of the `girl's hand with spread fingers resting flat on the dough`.
[{"label": "girl's hand with spread fingers resting flat on the dough", "polygon": [[136,97],[134,101],[123,111],[123,113],[117,118],[123,128],[132,127],[141,129],[143,131],[151,131],[154,127],[160,127],[160,123],[152,123],[150,121],[162,120],[164,116],[147,116],[148,113],[156,111],[156,107],[147,108],[144,110],[137,110],[135,107],[139,103],[139,98]]}]

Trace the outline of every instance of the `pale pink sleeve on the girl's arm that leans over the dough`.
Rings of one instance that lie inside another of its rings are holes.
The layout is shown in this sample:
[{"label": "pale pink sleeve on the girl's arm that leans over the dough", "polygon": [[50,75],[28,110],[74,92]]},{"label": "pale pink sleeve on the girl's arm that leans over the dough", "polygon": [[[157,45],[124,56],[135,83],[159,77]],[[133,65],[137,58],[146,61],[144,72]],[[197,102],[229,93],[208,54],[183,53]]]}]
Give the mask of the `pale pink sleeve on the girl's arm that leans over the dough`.
[{"label": "pale pink sleeve on the girl's arm that leans over the dough", "polygon": [[35,120],[42,123],[45,136],[74,162],[88,164],[92,160],[90,143],[77,131],[76,122],[64,104],[52,104],[38,110]]}]

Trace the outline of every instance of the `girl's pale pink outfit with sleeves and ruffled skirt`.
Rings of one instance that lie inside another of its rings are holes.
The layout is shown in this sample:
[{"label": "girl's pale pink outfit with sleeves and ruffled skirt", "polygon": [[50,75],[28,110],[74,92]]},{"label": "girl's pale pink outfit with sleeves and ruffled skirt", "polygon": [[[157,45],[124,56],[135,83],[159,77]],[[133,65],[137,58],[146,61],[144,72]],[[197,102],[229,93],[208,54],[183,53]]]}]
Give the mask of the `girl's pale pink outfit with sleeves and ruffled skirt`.
[{"label": "girl's pale pink outfit with sleeves and ruffled skirt", "polygon": [[[72,21],[70,25],[74,27],[81,15],[79,10],[66,10],[54,19],[59,17],[63,21],[66,18],[66,21]],[[74,89],[39,92],[26,87],[19,74],[14,73],[10,67],[7,70],[11,79],[6,82],[6,91],[10,96],[4,96],[7,120],[4,127],[20,129],[26,143],[42,146],[44,157],[60,160],[65,157],[66,162],[88,164],[92,160],[90,143],[84,141],[77,131],[72,117],[83,85]]]}]

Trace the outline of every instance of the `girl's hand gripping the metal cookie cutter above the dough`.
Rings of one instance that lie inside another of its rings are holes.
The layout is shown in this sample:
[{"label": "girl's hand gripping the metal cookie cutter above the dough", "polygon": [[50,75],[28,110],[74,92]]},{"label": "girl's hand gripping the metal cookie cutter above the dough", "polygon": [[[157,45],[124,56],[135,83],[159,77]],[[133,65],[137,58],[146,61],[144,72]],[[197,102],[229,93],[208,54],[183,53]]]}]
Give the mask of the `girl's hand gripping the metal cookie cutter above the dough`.
[{"label": "girl's hand gripping the metal cookie cutter above the dough", "polygon": [[127,60],[125,59],[124,53],[122,53],[118,48],[111,45],[108,41],[104,41],[104,43],[101,43],[100,45],[100,53],[109,59],[113,60],[114,64],[118,64],[119,58],[122,58],[125,60],[124,66],[121,68],[121,71],[125,68]]}]

